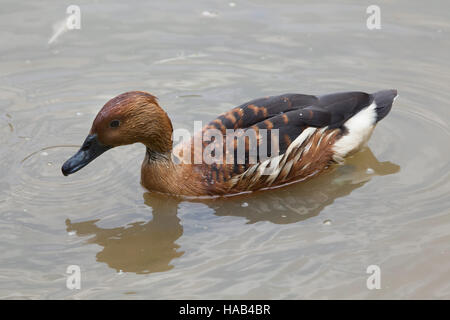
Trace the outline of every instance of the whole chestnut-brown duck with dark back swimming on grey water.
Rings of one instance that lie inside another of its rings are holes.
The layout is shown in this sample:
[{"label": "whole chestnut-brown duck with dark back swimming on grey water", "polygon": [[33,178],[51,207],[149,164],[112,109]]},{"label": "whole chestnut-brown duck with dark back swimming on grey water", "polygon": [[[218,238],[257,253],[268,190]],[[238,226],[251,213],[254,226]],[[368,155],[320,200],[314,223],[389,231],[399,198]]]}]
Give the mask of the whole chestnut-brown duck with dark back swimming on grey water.
[{"label": "whole chestnut-brown duck with dark back swimming on grey water", "polygon": [[267,96],[222,113],[174,146],[172,122],[157,97],[125,92],[101,108],[62,173],[73,174],[112,148],[141,143],[141,184],[149,191],[221,197],[284,187],[364,148],[395,98],[395,89]]}]

